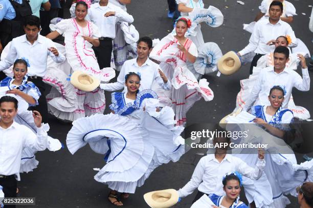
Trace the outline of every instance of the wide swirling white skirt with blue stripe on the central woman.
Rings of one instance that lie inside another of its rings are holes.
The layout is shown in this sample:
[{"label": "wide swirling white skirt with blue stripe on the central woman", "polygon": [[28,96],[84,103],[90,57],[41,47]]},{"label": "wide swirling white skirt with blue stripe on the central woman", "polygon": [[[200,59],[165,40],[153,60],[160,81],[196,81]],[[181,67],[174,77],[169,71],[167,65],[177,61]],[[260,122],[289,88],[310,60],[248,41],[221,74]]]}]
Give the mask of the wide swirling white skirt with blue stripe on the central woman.
[{"label": "wide swirling white skirt with blue stripe on the central woman", "polygon": [[142,126],[116,114],[77,119],[66,138],[70,152],[74,154],[89,143],[95,152],[105,154],[107,161],[95,180],[118,192],[135,193],[155,168],[176,162],[185,153],[180,136],[183,128],[174,127],[169,116],[172,109],[155,112],[153,104],[147,105]]}]

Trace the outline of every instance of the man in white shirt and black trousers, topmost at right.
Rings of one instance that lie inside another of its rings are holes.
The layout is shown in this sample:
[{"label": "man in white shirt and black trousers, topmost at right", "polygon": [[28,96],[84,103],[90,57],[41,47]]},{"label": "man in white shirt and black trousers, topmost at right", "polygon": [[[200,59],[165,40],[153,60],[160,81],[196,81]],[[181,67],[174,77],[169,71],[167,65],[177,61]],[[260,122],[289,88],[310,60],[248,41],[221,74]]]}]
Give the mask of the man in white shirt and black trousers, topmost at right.
[{"label": "man in white shirt and black trousers, topmost at right", "polygon": [[298,45],[293,29],[288,23],[280,19],[282,12],[283,4],[279,1],[273,1],[270,5],[269,19],[260,20],[255,24],[249,44],[237,53],[238,56],[244,56],[251,52],[256,53],[251,62],[250,74],[262,56],[273,52],[275,46],[271,45],[271,40],[276,40],[279,36],[289,36],[291,43],[288,46],[295,47]]}]

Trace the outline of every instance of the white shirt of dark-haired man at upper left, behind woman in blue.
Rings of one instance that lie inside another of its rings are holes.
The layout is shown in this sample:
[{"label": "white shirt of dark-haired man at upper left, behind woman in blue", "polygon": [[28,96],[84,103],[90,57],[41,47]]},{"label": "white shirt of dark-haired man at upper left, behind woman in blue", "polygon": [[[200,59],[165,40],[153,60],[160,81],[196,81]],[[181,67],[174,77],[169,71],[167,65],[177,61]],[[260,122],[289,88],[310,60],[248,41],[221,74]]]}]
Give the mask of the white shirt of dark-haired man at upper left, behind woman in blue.
[{"label": "white shirt of dark-haired man at upper left, behind woman in blue", "polygon": [[16,58],[26,58],[29,61],[28,75],[43,77],[47,71],[47,59],[50,56],[56,63],[65,61],[65,57],[60,53],[59,56],[48,50],[48,48],[56,48],[54,42],[44,36],[38,35],[37,40],[31,44],[26,35],[13,38],[10,51],[7,57],[0,61],[0,71],[5,70],[13,65]]}]

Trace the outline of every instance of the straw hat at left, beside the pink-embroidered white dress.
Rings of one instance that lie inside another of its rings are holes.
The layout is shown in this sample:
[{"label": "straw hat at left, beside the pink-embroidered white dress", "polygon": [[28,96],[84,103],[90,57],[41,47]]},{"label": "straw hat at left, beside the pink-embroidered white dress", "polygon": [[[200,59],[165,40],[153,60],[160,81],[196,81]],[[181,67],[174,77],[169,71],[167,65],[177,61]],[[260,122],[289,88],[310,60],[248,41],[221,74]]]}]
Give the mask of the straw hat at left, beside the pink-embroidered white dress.
[{"label": "straw hat at left, beside the pink-embroidered white dress", "polygon": [[74,71],[71,75],[71,83],[82,91],[91,92],[100,85],[100,80],[82,71]]}]

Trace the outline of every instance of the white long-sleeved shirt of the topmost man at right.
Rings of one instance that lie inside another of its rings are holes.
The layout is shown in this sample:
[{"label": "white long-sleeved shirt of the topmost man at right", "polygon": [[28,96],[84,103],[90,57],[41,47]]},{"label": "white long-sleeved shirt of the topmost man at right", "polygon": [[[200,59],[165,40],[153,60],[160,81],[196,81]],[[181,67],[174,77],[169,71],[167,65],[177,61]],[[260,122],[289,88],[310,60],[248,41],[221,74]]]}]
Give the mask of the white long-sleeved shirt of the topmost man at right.
[{"label": "white long-sleeved shirt of the topmost man at right", "polygon": [[239,51],[240,56],[255,52],[256,54],[270,54],[275,50],[275,45],[267,45],[270,40],[276,40],[279,36],[290,36],[292,43],[289,47],[298,45],[295,32],[287,22],[279,20],[271,24],[269,19],[261,19],[255,23],[249,44]]}]

